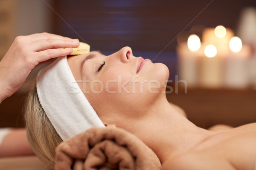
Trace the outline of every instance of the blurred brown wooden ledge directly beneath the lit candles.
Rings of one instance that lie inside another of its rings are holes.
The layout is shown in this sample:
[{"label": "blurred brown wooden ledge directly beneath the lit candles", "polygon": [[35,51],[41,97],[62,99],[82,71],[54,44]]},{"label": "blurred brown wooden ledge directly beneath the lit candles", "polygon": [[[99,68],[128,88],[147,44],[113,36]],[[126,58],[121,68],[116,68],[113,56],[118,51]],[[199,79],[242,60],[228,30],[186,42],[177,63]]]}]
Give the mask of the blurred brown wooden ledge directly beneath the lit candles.
[{"label": "blurred brown wooden ledge directly beneath the lit candles", "polygon": [[[175,86],[172,86],[175,88]],[[233,127],[256,122],[256,91],[231,89],[178,89],[167,95],[169,102],[183,108],[188,119],[199,127],[216,124]]]}]

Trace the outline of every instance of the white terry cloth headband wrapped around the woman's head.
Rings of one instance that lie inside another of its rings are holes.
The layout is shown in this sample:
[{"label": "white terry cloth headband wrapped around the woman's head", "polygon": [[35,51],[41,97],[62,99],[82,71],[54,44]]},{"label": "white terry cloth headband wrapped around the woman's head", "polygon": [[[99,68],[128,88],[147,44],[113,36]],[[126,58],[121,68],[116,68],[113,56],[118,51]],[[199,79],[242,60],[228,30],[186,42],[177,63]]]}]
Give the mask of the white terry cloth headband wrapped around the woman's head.
[{"label": "white terry cloth headband wrapped around the woman's head", "polygon": [[43,68],[36,87],[39,101],[61,139],[92,127],[105,127],[79,88],[67,56],[58,57]]}]

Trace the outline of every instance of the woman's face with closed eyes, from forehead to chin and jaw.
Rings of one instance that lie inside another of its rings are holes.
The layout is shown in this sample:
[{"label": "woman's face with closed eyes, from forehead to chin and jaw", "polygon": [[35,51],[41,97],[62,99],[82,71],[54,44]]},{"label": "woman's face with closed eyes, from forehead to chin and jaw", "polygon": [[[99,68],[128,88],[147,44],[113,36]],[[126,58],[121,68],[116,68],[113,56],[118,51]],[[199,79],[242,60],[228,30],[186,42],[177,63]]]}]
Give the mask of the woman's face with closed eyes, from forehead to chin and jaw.
[{"label": "woman's face with closed eyes, from forehead to chin and jaw", "polygon": [[[147,104],[165,96],[169,70],[162,63],[134,57],[130,47],[109,56],[99,51],[67,58],[84,95],[105,124],[138,119]],[[120,123],[121,124],[121,123]]]}]

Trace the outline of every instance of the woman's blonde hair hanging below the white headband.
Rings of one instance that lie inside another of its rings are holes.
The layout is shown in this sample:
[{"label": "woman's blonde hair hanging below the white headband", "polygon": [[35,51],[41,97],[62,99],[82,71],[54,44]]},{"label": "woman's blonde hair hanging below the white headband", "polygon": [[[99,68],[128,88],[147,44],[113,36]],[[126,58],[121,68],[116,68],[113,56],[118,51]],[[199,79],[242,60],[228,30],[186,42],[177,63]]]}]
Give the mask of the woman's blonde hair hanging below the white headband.
[{"label": "woman's blonde hair hanging below the white headband", "polygon": [[54,167],[55,148],[62,142],[42,108],[36,86],[29,92],[24,107],[29,144],[41,161]]}]

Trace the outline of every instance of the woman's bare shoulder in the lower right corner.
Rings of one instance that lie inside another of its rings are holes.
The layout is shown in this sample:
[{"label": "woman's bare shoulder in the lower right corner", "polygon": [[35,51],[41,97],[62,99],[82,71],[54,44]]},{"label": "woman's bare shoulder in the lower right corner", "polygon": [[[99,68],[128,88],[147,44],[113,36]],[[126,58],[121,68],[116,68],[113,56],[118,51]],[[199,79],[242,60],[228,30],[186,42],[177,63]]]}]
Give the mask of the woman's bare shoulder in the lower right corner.
[{"label": "woman's bare shoulder in the lower right corner", "polygon": [[167,159],[162,170],[254,170],[256,123],[222,132],[185,154]]}]

